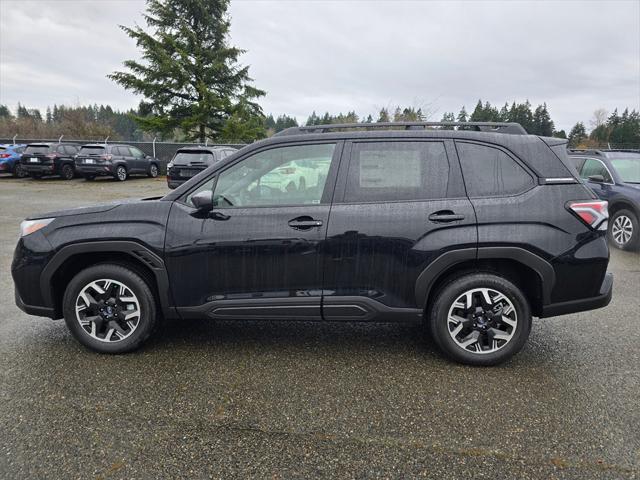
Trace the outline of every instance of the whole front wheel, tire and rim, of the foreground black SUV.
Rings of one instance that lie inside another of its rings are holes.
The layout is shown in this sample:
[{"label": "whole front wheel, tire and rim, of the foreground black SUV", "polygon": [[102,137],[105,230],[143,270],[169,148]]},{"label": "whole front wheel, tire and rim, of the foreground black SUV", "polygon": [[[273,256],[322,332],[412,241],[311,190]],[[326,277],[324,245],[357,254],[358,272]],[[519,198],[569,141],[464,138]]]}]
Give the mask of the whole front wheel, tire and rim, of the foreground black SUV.
[{"label": "whole front wheel, tire and rim, of the foreground black SUV", "polygon": [[65,291],[63,313],[73,336],[101,353],[137,349],[158,323],[147,282],[133,270],[114,264],[78,273]]}]

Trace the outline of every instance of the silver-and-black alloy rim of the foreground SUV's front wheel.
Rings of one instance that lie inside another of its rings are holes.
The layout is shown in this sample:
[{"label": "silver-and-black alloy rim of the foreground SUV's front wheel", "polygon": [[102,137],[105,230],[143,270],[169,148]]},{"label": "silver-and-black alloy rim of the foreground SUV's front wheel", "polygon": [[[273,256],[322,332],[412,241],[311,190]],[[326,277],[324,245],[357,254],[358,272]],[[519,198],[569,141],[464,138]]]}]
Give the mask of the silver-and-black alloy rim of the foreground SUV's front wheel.
[{"label": "silver-and-black alloy rim of the foreground SUV's front wheel", "polygon": [[138,298],[117,280],[101,279],[85,285],[76,298],[75,310],[82,329],[101,342],[122,341],[140,324]]}]

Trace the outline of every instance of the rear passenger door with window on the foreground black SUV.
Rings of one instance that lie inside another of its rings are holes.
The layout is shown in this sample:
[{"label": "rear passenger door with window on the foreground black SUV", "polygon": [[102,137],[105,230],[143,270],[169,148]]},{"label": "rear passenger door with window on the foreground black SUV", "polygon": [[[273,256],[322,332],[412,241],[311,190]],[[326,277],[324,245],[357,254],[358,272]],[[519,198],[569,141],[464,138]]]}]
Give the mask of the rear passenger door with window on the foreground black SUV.
[{"label": "rear passenger door with window on the foreground black SUV", "polygon": [[416,282],[431,262],[451,249],[475,256],[475,214],[453,143],[354,141],[345,157],[323,255],[323,317],[417,318]]}]

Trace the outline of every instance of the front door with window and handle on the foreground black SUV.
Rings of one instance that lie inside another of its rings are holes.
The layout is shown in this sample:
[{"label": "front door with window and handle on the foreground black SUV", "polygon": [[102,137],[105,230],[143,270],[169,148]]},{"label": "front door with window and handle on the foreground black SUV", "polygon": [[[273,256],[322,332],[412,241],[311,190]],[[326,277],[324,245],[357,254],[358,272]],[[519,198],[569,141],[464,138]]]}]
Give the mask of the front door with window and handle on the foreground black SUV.
[{"label": "front door with window and handle on the foreground black SUV", "polygon": [[[267,147],[171,209],[166,263],[183,317],[320,318],[322,265],[340,143]],[[202,214],[190,198],[213,191]]]}]

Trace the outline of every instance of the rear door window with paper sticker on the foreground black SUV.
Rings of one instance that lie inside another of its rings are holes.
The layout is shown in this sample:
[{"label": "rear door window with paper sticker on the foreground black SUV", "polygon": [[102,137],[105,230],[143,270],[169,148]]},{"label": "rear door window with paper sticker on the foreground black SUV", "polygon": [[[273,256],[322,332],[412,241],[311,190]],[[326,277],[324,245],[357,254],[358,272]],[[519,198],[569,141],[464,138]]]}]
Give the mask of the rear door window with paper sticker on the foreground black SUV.
[{"label": "rear door window with paper sticker on the foreground black SUV", "polygon": [[449,160],[442,142],[354,143],[344,201],[447,197]]}]

